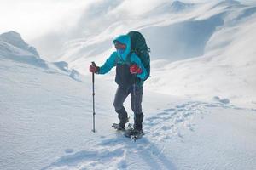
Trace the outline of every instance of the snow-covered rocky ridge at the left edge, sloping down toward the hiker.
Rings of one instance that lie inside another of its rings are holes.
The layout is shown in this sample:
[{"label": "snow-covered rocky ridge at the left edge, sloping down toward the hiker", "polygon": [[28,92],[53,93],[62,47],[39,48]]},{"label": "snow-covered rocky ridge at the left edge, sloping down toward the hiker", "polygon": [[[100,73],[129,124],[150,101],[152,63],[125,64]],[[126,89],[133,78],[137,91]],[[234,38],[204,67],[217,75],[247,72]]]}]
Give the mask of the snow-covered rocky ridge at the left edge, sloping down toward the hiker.
[{"label": "snow-covered rocky ridge at the left edge, sloping down toward the hiker", "polygon": [[9,31],[0,35],[0,58],[10,59],[17,63],[26,63],[42,67],[46,71],[61,71],[69,77],[79,81],[79,72],[69,69],[65,61],[49,63],[41,59],[36,48],[28,45],[15,31]]}]

